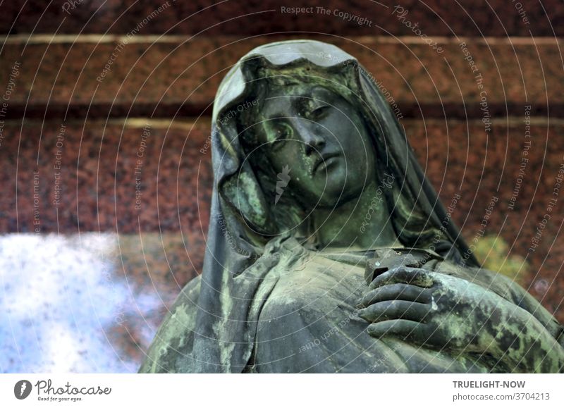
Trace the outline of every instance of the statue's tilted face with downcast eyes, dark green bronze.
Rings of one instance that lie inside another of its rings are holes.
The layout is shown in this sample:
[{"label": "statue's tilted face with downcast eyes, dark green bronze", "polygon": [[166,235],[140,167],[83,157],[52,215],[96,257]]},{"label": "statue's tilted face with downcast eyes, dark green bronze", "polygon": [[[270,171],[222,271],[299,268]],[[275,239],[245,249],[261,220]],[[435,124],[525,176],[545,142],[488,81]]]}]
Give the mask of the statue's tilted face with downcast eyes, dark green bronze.
[{"label": "statue's tilted face with downcast eyes, dark green bronze", "polygon": [[[333,207],[359,197],[374,180],[374,150],[355,106],[321,86],[276,87],[257,123],[259,149],[289,187],[311,206]],[[283,185],[282,185],[283,184]]]}]

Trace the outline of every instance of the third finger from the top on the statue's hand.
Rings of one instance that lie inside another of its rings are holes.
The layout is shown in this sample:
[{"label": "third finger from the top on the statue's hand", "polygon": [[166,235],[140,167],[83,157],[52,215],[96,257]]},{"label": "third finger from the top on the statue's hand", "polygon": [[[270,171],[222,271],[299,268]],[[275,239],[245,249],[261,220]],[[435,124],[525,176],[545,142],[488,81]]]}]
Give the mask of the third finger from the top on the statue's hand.
[{"label": "third finger from the top on the statue's hand", "polygon": [[371,304],[360,310],[358,316],[371,323],[395,319],[424,321],[430,311],[430,304],[396,299]]}]

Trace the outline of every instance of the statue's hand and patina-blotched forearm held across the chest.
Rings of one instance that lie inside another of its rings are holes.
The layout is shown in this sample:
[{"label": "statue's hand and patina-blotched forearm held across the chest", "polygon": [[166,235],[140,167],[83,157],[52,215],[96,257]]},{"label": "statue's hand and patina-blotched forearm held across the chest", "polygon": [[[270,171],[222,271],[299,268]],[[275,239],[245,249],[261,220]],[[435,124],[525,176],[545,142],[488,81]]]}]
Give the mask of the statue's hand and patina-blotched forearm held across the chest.
[{"label": "statue's hand and patina-blotched forearm held across the chest", "polygon": [[532,314],[462,278],[400,266],[372,281],[360,307],[376,338],[487,354],[508,371],[564,370],[564,348]]}]

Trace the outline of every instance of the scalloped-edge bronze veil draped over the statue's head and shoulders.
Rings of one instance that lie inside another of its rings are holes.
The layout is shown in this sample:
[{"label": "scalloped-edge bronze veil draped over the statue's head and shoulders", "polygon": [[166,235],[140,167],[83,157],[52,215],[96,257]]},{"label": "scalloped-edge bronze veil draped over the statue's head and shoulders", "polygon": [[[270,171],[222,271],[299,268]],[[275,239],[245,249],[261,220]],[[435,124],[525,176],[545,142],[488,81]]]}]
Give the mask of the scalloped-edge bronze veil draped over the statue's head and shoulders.
[{"label": "scalloped-edge bronze veil draped over the statue's head and shoulders", "polygon": [[[479,266],[425,178],[396,116],[356,58],[331,44],[312,40],[257,47],[231,68],[214,102],[214,187],[190,357],[192,372],[245,369],[252,353],[259,313],[255,295],[264,276],[276,263],[276,256],[263,256],[266,252],[276,252],[276,247],[267,245],[277,235],[276,225],[257,175],[245,161],[236,118],[231,113],[241,109],[249,99],[248,84],[257,79],[258,68],[283,69],[302,64],[313,67],[317,74],[348,70],[352,83],[347,86],[360,96],[365,119],[379,129],[387,166],[395,172],[402,194],[412,197],[431,228],[442,231],[442,244],[448,245],[441,255],[459,264]],[[462,254],[466,254],[464,260]]]}]

